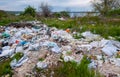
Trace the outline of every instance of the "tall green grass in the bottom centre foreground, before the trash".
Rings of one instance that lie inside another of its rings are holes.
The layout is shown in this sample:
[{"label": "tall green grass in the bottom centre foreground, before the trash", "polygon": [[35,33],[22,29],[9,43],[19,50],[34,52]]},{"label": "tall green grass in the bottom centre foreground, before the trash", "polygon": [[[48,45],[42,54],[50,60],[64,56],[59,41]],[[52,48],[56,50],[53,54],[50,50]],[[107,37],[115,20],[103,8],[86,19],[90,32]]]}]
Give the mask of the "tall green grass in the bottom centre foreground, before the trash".
[{"label": "tall green grass in the bottom centre foreground, before the trash", "polygon": [[89,61],[86,57],[82,59],[80,64],[76,62],[62,62],[53,68],[37,71],[37,74],[50,77],[51,72],[54,71],[52,77],[102,77],[99,72],[88,68]]}]

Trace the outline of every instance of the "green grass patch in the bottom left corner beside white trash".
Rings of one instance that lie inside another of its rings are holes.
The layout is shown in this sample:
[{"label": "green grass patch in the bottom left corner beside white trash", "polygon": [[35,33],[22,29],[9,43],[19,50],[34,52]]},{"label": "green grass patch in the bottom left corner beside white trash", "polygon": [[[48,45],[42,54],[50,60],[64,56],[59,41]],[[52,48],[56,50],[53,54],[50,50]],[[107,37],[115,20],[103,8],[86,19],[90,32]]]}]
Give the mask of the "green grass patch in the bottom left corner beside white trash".
[{"label": "green grass patch in the bottom left corner beside white trash", "polygon": [[2,61],[0,63],[0,77],[7,75],[7,74],[9,74],[10,77],[12,77],[13,72],[12,72],[12,69],[10,67],[10,62],[13,59],[19,60],[22,56],[23,56],[23,53],[18,52],[12,58],[9,58],[8,60]]}]

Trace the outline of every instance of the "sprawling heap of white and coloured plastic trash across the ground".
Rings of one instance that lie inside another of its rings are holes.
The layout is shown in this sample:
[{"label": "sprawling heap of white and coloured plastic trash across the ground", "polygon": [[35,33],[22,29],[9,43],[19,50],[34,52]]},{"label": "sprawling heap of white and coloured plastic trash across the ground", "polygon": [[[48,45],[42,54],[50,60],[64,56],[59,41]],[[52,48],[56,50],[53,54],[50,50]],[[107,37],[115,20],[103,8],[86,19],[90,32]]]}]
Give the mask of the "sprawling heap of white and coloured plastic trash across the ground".
[{"label": "sprawling heap of white and coloured plastic trash across the ground", "polygon": [[[21,70],[23,76],[34,67],[45,69],[57,65],[61,57],[65,62],[79,63],[84,54],[90,59],[89,68],[98,69],[104,75],[120,75],[117,70],[120,68],[120,42],[104,39],[90,31],[81,35],[84,38],[74,39],[72,33],[48,27],[39,21],[11,23],[0,28],[0,58],[12,58],[17,52],[24,54],[20,60],[14,59],[10,63],[18,77]],[[43,61],[39,61],[40,58]]]}]

